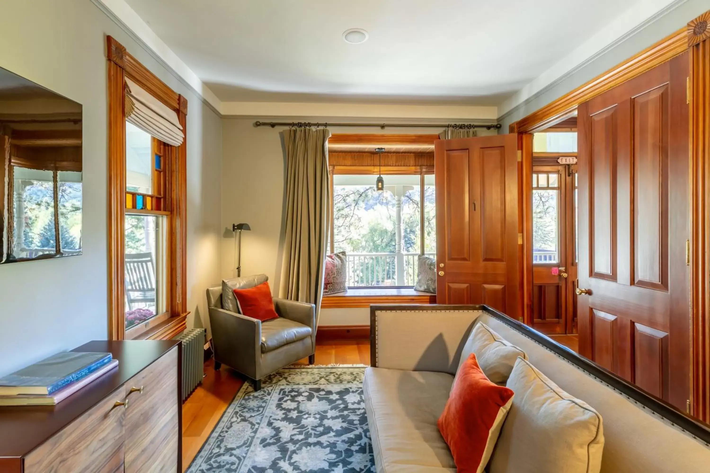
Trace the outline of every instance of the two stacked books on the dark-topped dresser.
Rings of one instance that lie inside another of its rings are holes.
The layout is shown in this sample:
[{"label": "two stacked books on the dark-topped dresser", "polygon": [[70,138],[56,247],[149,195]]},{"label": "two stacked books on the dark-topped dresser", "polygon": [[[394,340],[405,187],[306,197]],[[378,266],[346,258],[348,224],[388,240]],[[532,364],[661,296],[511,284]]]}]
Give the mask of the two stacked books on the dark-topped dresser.
[{"label": "two stacked books on the dark-topped dresser", "polygon": [[53,406],[118,364],[111,353],[57,353],[0,378],[0,406]]}]

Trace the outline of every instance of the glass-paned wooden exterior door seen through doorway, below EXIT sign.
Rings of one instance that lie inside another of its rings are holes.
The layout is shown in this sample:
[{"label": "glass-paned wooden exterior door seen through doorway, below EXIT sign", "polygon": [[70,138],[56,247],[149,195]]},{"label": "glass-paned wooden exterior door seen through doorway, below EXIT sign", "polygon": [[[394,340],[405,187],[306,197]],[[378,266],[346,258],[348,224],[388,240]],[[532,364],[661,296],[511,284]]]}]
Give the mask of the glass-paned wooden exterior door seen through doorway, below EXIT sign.
[{"label": "glass-paned wooden exterior door seen through doorway, below EXIT sign", "polygon": [[532,167],[532,328],[567,333],[567,167]]}]

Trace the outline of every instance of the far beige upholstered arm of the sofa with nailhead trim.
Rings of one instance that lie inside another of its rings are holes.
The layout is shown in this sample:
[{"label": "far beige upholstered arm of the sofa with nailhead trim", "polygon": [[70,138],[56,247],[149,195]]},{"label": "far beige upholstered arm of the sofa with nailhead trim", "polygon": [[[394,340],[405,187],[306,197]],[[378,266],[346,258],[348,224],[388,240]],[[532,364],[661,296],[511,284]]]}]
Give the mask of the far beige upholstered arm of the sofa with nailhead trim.
[{"label": "far beige upholstered arm of the sofa with nailhead trim", "polygon": [[455,374],[480,314],[466,306],[371,306],[371,365]]}]

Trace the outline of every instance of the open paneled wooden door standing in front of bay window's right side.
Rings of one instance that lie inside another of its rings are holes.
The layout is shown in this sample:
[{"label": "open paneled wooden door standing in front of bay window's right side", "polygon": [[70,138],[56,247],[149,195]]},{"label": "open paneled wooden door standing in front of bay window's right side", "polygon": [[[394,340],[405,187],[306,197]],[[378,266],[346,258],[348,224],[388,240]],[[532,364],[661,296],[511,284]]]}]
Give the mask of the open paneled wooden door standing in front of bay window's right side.
[{"label": "open paneled wooden door standing in front of bay window's right side", "polygon": [[437,303],[518,318],[518,136],[435,144]]}]

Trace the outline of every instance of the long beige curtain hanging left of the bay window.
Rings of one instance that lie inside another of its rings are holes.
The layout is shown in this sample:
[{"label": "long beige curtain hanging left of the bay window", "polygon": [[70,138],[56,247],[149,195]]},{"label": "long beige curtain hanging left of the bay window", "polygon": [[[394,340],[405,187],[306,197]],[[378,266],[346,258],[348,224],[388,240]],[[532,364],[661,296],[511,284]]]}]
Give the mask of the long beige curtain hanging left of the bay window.
[{"label": "long beige curtain hanging left of the bay window", "polygon": [[330,131],[291,128],[286,151],[286,221],[279,296],[308,302],[320,313],[328,232]]}]

